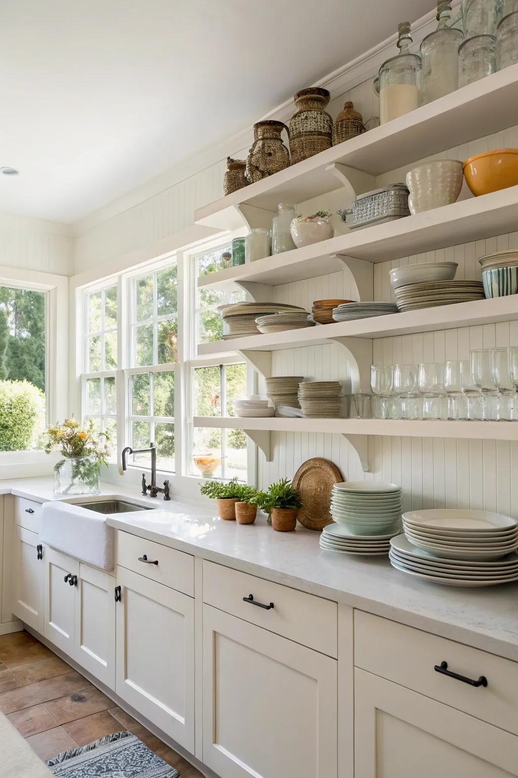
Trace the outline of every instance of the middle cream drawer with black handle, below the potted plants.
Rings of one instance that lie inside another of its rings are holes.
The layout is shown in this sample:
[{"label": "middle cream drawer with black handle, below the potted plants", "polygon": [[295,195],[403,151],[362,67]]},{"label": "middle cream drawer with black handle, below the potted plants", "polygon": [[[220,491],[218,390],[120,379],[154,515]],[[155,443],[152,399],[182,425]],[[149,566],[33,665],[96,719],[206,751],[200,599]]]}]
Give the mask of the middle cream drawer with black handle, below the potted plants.
[{"label": "middle cream drawer with black handle, below the potted plants", "polygon": [[[259,608],[243,598],[273,608]],[[231,613],[270,632],[314,648],[329,657],[337,655],[338,605],[297,589],[203,561],[203,602]]]}]

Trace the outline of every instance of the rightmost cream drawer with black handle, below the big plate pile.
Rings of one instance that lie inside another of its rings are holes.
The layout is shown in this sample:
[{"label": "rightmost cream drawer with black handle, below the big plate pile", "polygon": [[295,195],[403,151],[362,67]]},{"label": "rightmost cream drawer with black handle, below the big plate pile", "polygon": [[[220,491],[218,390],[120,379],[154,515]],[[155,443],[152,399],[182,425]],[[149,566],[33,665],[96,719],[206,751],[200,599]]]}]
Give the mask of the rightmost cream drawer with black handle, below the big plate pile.
[{"label": "rightmost cream drawer with black handle, below the big plate pile", "polygon": [[[434,670],[442,662],[472,686]],[[518,663],[388,619],[354,612],[354,664],[389,681],[518,734]]]}]

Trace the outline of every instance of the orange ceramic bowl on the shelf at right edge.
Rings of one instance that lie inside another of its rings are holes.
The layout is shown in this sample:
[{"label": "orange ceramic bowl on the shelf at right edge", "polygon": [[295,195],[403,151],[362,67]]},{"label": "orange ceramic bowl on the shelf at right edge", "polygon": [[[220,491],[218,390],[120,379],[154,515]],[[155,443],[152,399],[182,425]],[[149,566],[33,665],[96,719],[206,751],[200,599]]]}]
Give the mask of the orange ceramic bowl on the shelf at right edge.
[{"label": "orange ceramic bowl on the shelf at right edge", "polygon": [[462,170],[475,197],[514,187],[518,184],[518,149],[494,149],[471,156]]}]

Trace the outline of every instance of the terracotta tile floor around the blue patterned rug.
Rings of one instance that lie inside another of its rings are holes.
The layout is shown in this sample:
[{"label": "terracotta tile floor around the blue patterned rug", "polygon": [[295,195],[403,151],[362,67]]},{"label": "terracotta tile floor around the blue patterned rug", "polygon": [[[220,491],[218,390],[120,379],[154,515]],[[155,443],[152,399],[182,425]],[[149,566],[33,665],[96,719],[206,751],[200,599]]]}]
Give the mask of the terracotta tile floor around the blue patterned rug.
[{"label": "terracotta tile floor around the blue patterned rug", "polygon": [[0,635],[0,710],[41,759],[129,730],[181,778],[203,778],[29,633]]}]

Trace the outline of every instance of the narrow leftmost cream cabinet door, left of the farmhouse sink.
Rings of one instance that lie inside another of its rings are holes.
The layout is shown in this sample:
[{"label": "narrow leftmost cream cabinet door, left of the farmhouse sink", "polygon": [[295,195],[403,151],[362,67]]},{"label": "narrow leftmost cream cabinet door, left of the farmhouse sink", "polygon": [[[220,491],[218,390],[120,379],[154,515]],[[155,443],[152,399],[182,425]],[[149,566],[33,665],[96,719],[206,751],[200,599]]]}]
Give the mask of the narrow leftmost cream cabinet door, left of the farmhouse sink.
[{"label": "narrow leftmost cream cabinet door, left of the farmhouse sink", "polygon": [[36,532],[12,528],[12,612],[43,633],[43,563]]}]

